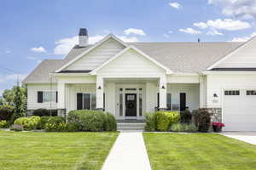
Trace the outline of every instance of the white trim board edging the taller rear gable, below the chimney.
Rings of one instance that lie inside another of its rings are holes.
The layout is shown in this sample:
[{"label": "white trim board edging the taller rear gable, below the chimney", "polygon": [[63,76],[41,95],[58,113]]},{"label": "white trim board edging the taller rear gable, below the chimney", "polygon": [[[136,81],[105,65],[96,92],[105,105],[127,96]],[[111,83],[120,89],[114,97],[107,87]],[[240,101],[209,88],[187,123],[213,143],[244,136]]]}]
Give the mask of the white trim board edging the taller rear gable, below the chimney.
[{"label": "white trim board edging the taller rear gable, below the chimney", "polygon": [[65,68],[67,68],[67,66],[72,65],[75,61],[81,59],[85,54],[89,54],[90,51],[92,51],[93,49],[95,49],[95,48],[99,47],[100,45],[102,45],[103,42],[107,42],[108,39],[110,39],[110,38],[113,38],[113,40],[121,43],[125,47],[128,47],[128,45],[125,42],[123,42],[122,40],[120,40],[118,37],[115,37],[113,34],[109,34],[107,37],[104,37],[101,41],[96,42],[95,45],[93,45],[92,47],[90,47],[87,50],[85,50],[82,54],[79,54],[77,57],[75,57],[74,59],[69,61],[67,64],[61,66],[61,68],[56,70],[55,72],[58,73],[58,72],[64,70]]}]

